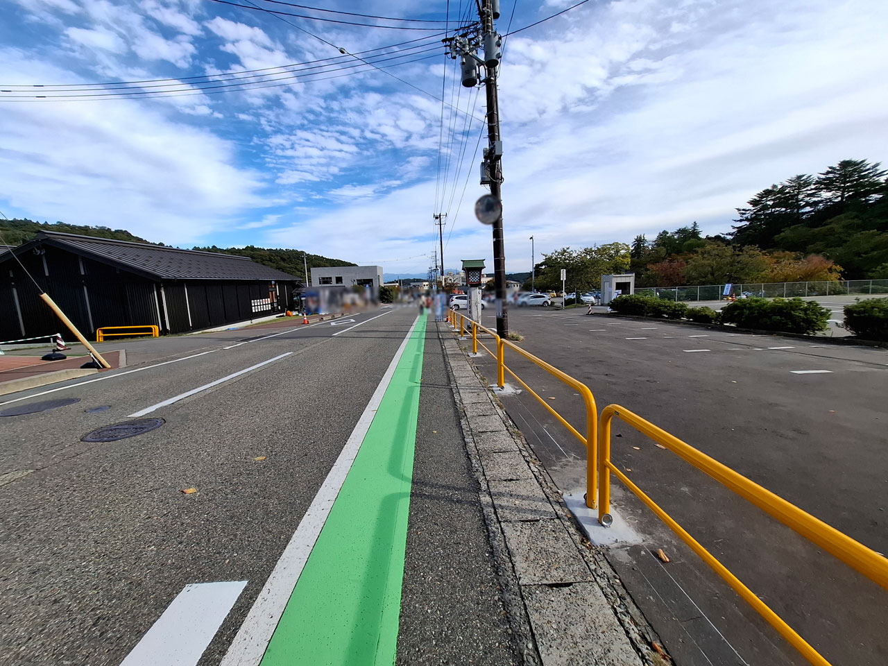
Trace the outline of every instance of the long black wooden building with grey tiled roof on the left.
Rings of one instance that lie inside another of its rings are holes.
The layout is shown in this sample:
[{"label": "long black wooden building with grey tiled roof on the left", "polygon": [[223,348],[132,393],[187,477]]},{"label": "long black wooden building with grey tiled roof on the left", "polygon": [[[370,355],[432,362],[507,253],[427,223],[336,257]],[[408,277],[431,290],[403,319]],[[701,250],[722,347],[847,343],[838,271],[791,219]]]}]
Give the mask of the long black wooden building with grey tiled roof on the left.
[{"label": "long black wooden building with grey tiled roof on the left", "polygon": [[103,326],[182,333],[258,319],[286,310],[303,288],[246,257],[40,232],[0,252],[0,340],[62,328],[13,254],[86,337]]}]

